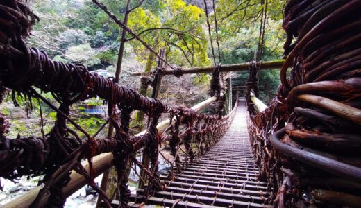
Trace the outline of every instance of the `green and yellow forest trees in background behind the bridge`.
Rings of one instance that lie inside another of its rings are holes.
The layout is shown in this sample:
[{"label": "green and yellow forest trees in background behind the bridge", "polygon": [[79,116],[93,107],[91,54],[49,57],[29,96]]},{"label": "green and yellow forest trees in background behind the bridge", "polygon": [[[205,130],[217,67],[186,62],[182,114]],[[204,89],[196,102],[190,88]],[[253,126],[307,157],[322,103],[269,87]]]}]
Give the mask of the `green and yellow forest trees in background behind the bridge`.
[{"label": "green and yellow forest trees in background behind the bridge", "polygon": [[[92,1],[46,0],[29,1],[40,18],[27,40],[29,46],[47,52],[49,58],[74,64],[85,64],[90,71],[105,69],[107,76],[115,76],[122,29]],[[128,13],[126,25],[139,35],[151,49],[165,49],[165,59],[174,67],[202,67],[216,64],[237,64],[255,60],[260,34],[262,5],[258,1],[182,1],[143,0],[101,1],[119,19]],[[207,10],[205,10],[205,3]],[[285,34],[282,30],[284,1],[268,1],[265,41],[262,60],[283,58]],[[128,4],[128,9],[127,8]],[[128,12],[126,12],[128,10]],[[208,30],[207,15],[210,31]],[[217,26],[215,20],[217,19]],[[140,77],[135,71],[153,71],[156,55],[125,34],[124,55],[121,60],[119,83],[140,89]],[[276,94],[279,71],[260,71],[260,98],[266,103]],[[224,76],[227,76],[224,74]],[[248,73],[233,75],[233,86],[246,83]],[[199,74],[163,80],[159,98],[169,104],[192,106],[206,98],[210,74]],[[151,95],[151,90],[147,91]],[[51,96],[47,96],[51,100]],[[22,103],[22,98],[17,98]],[[16,137],[31,130],[39,134],[39,107],[44,114],[44,132],[51,128],[56,112],[42,102],[33,102],[32,112],[24,112],[12,105],[10,97],[1,104],[7,116],[16,118],[10,125],[10,136]],[[88,105],[103,105],[100,100]],[[84,105],[73,107],[74,116],[87,129],[95,132],[101,118],[84,113]],[[76,113],[75,113],[76,112]],[[28,122],[31,119],[32,122]],[[141,122],[136,125],[142,125]]]}]

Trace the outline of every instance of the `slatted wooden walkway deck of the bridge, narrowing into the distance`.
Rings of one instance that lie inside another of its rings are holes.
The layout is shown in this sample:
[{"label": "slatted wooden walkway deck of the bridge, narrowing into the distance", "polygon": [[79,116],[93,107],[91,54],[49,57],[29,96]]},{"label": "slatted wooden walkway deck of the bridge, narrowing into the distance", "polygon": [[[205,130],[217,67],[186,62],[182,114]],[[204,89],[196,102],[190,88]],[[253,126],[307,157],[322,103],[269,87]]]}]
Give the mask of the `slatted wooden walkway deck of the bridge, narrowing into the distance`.
[{"label": "slatted wooden walkway deck of the bridge, narrowing into the distance", "polygon": [[[262,203],[262,196],[267,196],[267,184],[256,180],[257,173],[246,128],[244,101],[240,100],[235,119],[224,138],[176,175],[174,181],[167,181],[166,175],[162,175],[167,187],[149,197],[147,205],[271,207]],[[139,195],[133,199],[142,200],[144,190],[137,193]],[[137,207],[139,204],[131,202],[130,205]]]}]

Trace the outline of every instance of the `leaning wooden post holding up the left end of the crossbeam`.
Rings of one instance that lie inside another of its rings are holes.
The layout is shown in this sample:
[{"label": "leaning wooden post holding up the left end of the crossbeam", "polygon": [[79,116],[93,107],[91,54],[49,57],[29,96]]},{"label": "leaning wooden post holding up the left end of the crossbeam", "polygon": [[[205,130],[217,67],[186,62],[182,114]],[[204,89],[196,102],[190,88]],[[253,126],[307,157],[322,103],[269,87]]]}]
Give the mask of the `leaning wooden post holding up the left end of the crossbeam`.
[{"label": "leaning wooden post holding up the left end of the crossbeam", "polygon": [[[159,55],[160,57],[162,57],[162,59],[165,59],[165,49],[160,49],[159,50]],[[164,66],[164,62],[162,62],[162,60],[158,59],[158,64],[157,67],[158,68],[162,68]],[[160,85],[162,84],[162,74],[158,73],[156,74],[155,77],[155,85],[153,86],[153,92],[152,92],[152,98],[158,98],[159,96],[159,92],[160,92]],[[148,169],[149,168],[149,157],[146,154],[145,150],[143,150],[143,154],[142,154],[142,165],[144,166],[144,168]],[[143,178],[143,180],[139,180],[139,185],[138,187],[140,189],[144,189],[146,183],[148,182],[148,179],[146,178],[146,173],[142,170],[140,170],[140,177]]]}]

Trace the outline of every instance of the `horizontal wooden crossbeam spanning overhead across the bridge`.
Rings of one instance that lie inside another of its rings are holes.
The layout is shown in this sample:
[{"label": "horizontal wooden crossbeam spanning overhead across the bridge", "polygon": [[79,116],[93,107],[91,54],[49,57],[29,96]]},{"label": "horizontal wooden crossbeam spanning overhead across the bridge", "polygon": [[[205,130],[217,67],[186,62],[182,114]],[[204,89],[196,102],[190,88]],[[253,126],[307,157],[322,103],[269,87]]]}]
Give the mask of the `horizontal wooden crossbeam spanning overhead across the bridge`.
[{"label": "horizontal wooden crossbeam spanning overhead across the bridge", "polygon": [[[260,69],[280,69],[282,67],[283,62],[285,60],[276,60],[276,61],[269,61],[269,62],[261,62]],[[214,67],[192,67],[192,68],[184,68],[182,69],[183,74],[190,74],[190,73],[212,73]],[[230,71],[247,71],[249,70],[248,63],[242,64],[226,64],[221,65],[220,71],[222,72],[230,72]],[[173,75],[173,70],[165,70],[165,75]],[[132,73],[131,76],[151,76],[151,73],[144,73],[144,72],[135,72]]]}]

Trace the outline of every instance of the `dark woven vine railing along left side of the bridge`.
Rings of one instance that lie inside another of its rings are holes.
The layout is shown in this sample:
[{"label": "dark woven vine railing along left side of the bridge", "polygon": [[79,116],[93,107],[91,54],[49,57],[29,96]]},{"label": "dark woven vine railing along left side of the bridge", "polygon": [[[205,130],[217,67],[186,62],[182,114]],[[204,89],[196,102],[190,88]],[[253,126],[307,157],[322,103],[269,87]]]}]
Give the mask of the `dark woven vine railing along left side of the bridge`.
[{"label": "dark woven vine railing along left side of the bridge", "polygon": [[[26,107],[31,109],[31,98],[37,98],[57,112],[53,128],[43,137],[16,139],[6,137],[9,121],[3,114],[0,116],[0,177],[15,180],[24,175],[44,175],[40,182],[43,187],[30,207],[62,207],[66,200],[62,189],[69,182],[72,170],[85,177],[108,207],[116,194],[120,206],[127,207],[130,196],[128,165],[135,164],[145,171],[149,181],[146,193],[150,195],[164,187],[158,175],[158,156],[162,156],[160,144],[170,146],[173,159],[165,159],[181,171],[182,166],[205,153],[228,129],[235,111],[221,116],[224,96],[220,93],[219,78],[214,77],[212,80],[217,80],[218,84],[213,82],[211,86],[212,96],[217,96],[219,101],[218,114],[198,114],[190,108],[169,107],[158,99],[146,98],[131,88],[122,87],[111,78],[90,73],[83,65],[52,61],[43,51],[29,48],[25,40],[37,19],[22,0],[0,2],[1,99],[11,89],[15,105],[15,97],[22,96]],[[59,107],[42,97],[40,91],[51,92]],[[98,138],[97,133],[89,135],[69,118],[72,104],[95,96],[108,103],[106,123],[114,126],[114,137]],[[142,136],[129,135],[133,110],[140,110],[149,118],[146,133]],[[161,114],[169,114],[170,122],[164,131],[158,132],[156,125]],[[68,123],[82,132],[85,139],[74,128],[69,128]],[[150,158],[148,169],[133,157],[133,153],[141,148]],[[112,153],[112,164],[117,170],[117,189],[112,196],[107,196],[93,180],[92,157],[101,153]],[[180,155],[184,159],[180,159]],[[81,164],[82,159],[88,160],[89,171]],[[172,171],[169,177],[172,177]],[[48,200],[42,204],[45,197]]]}]

